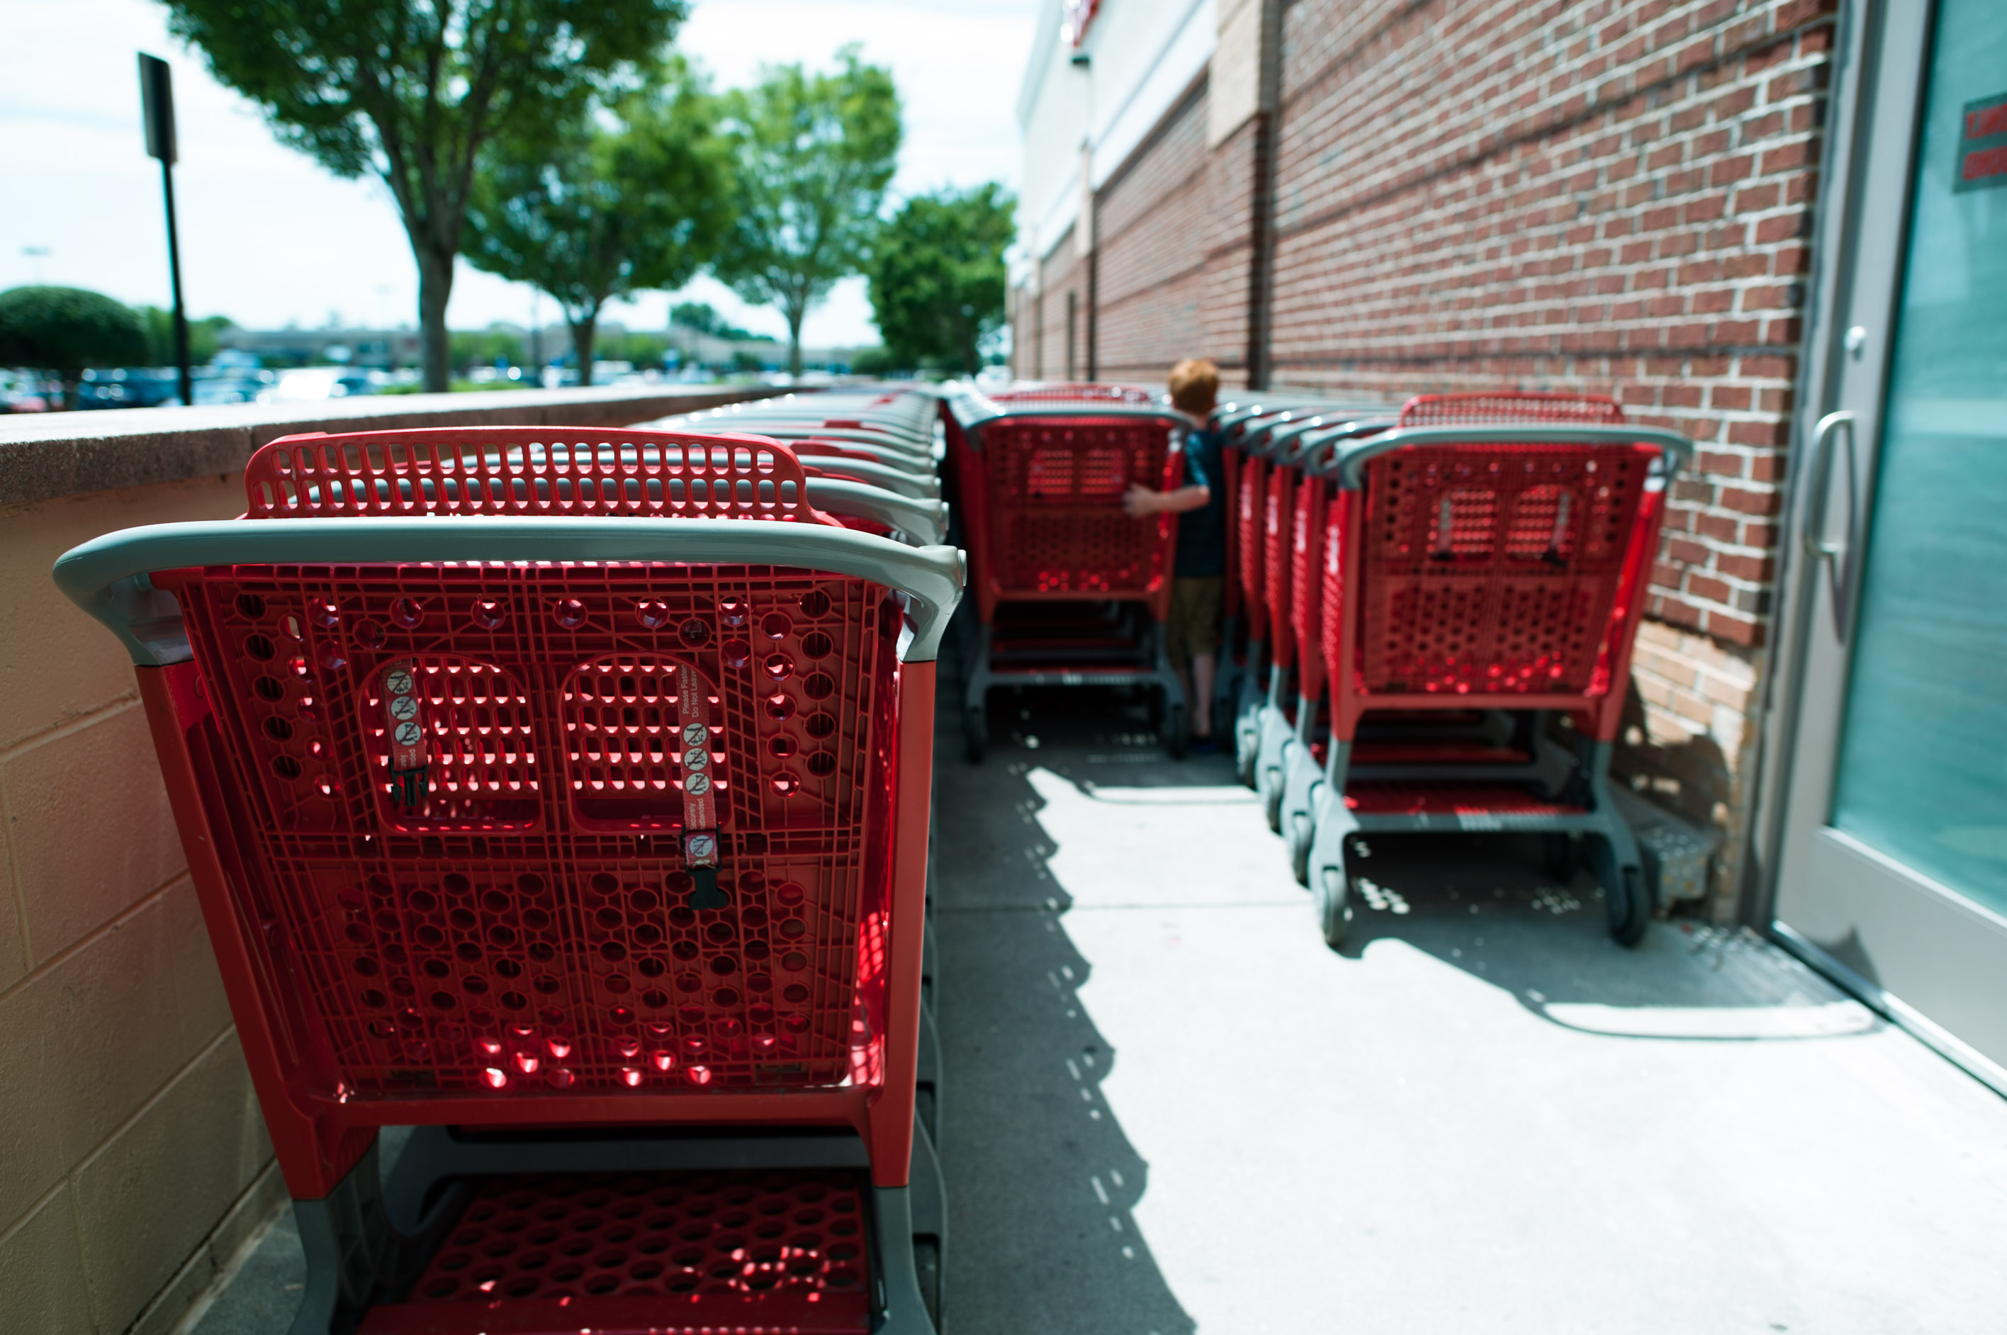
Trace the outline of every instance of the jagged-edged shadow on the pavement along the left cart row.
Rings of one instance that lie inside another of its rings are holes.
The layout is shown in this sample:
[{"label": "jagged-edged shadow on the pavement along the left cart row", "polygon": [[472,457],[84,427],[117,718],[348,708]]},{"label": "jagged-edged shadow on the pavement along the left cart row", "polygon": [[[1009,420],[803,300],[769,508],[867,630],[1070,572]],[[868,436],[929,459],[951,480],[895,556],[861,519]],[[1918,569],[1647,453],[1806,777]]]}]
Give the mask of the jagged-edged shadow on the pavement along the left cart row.
[{"label": "jagged-edged shadow on the pavement along the left cart row", "polygon": [[947,1323],[955,1335],[1186,1335],[1196,1323],[1132,1213],[1150,1164],[1100,1092],[1120,1054],[1080,1004],[1094,966],[1062,921],[1074,899],[1046,865],[1054,849],[1030,771],[1050,763],[1074,781],[1120,785],[1232,779],[1224,767],[1156,765],[1162,751],[1138,701],[1038,695],[1058,699],[1024,709],[1036,727],[1064,729],[1064,755],[1028,731],[1014,693],[997,691],[993,753],[971,767],[955,713],[941,711],[935,996]]}]

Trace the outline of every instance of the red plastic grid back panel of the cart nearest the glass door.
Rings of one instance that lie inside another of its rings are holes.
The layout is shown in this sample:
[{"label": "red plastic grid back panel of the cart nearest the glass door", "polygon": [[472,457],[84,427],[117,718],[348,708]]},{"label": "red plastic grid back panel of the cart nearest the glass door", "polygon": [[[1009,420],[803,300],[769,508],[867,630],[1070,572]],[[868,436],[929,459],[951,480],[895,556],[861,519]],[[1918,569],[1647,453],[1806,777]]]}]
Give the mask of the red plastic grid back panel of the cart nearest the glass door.
[{"label": "red plastic grid back panel of the cart nearest the glass door", "polygon": [[1636,446],[1427,446],[1371,460],[1365,689],[1608,689],[1652,458]]}]

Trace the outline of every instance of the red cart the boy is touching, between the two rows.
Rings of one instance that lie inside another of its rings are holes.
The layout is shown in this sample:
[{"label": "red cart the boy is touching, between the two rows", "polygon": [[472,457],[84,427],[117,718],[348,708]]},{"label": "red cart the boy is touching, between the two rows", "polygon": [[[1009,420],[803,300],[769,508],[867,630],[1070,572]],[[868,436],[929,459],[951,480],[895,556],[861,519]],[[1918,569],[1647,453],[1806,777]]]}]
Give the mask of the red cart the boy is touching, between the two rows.
[{"label": "red cart the boy is touching, between the two rows", "polygon": [[[1092,389],[1092,397],[1082,397]],[[947,458],[975,592],[965,648],[969,759],[999,685],[1142,685],[1172,753],[1186,701],[1164,654],[1174,516],[1130,518],[1130,486],[1178,484],[1192,420],[1122,385],[1042,385],[949,402]]]}]

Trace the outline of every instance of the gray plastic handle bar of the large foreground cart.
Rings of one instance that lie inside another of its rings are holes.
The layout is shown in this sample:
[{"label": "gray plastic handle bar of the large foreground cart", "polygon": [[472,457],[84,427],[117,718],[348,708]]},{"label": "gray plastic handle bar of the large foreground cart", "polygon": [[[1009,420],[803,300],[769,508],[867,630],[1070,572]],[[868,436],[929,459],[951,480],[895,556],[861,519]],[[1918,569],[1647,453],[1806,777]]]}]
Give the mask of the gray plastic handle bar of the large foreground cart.
[{"label": "gray plastic handle bar of the large foreground cart", "polygon": [[674,562],[799,566],[851,574],[911,598],[907,662],[929,662],[961,598],[961,552],[777,520],[646,520],[600,516],[419,516],[203,520],[92,538],[56,560],[56,586],[116,634],[132,662],[193,656],[181,604],[149,574],[185,566],[353,566],[419,562]]}]

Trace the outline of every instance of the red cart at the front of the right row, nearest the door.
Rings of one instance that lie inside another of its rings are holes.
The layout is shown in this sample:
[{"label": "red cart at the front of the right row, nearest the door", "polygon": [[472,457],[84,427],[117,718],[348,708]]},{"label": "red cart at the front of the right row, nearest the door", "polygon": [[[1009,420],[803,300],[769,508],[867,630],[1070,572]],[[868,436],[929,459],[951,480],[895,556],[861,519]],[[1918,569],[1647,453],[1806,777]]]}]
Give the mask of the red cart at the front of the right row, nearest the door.
[{"label": "red cart at the front of the right row, nearest the door", "polygon": [[[1507,829],[1543,833],[1557,863],[1586,845],[1612,936],[1642,938],[1654,895],[1610,755],[1666,486],[1690,454],[1612,399],[1537,393],[1415,397],[1397,430],[1331,454],[1331,743],[1309,851],[1327,942],[1351,919],[1361,835]],[[1457,735],[1361,739],[1369,711],[1533,711],[1535,727],[1529,755],[1491,765]],[[1571,725],[1559,771],[1545,711]]]}]

